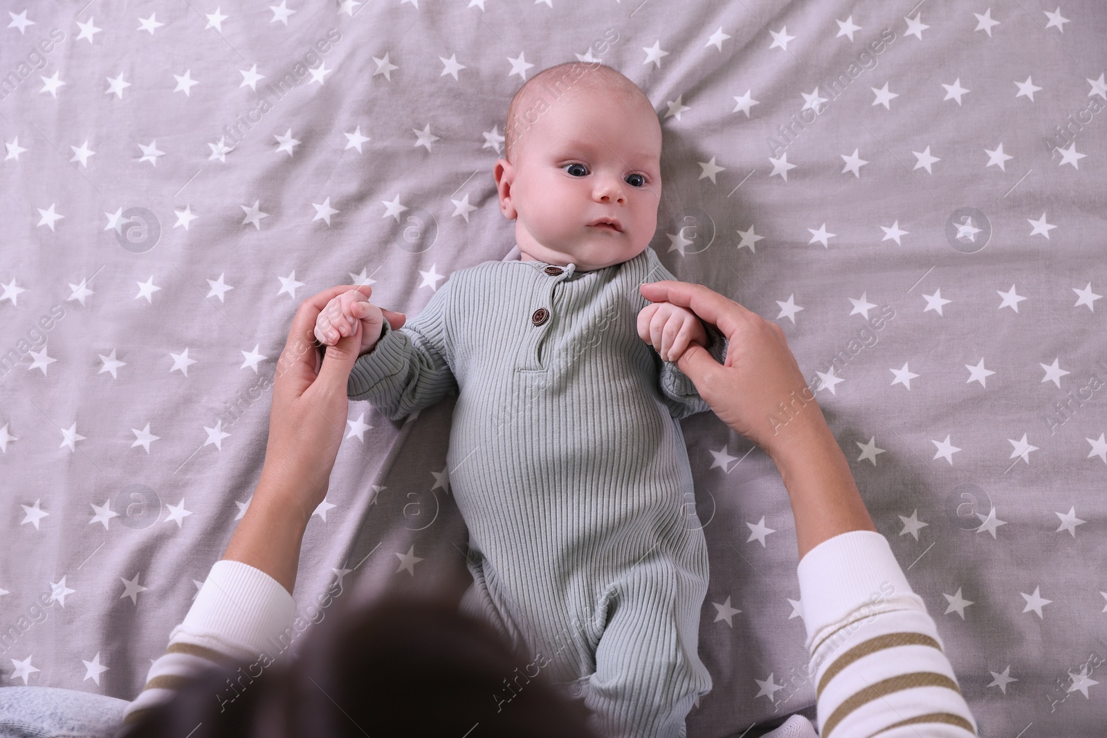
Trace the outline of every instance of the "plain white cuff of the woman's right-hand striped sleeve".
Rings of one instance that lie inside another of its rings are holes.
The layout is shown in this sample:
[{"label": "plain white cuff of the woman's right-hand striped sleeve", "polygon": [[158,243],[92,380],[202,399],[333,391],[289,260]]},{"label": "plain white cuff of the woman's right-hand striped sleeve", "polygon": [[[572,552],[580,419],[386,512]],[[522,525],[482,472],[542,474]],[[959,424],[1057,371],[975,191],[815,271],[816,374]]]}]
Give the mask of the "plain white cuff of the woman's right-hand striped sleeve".
[{"label": "plain white cuff of the woman's right-hand striped sleeve", "polygon": [[[918,600],[888,540],[871,530],[853,530],[823,541],[800,560],[799,597],[808,643],[863,606]],[[908,595],[904,597],[903,595]],[[925,606],[919,600],[925,612]]]}]

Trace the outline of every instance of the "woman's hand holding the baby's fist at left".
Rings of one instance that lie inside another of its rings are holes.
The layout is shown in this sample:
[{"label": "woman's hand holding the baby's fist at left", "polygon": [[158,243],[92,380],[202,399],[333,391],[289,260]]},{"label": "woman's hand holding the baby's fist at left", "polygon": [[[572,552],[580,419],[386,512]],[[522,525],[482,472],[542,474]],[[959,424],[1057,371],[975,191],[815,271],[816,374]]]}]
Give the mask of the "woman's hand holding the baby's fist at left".
[{"label": "woman's hand holding the baby's fist at left", "polygon": [[[286,503],[302,505],[308,517],[327,496],[345,432],[346,381],[361,342],[360,332],[342,336],[327,346],[324,362],[314,342],[315,322],[328,302],[348,290],[372,294],[369,285],[339,284],[300,303],[277,363],[261,478],[268,488],[290,496]],[[393,328],[404,324],[400,313],[384,315]]]}]

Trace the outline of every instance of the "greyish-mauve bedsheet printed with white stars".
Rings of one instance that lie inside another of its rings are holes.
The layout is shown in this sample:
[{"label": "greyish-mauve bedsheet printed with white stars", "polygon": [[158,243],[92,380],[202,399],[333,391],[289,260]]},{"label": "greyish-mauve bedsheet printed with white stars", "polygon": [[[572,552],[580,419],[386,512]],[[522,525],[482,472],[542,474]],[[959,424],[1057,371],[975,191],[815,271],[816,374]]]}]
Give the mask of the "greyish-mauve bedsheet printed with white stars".
[{"label": "greyish-mauve bedsheet printed with white stars", "polygon": [[[250,499],[300,301],[416,314],[504,258],[508,101],[594,59],[662,119],[653,248],[784,328],[982,734],[1100,730],[1107,12],[913,2],[6,3],[0,685],[137,694]],[[465,583],[451,409],[351,404],[306,621],[335,578]],[[814,703],[794,528],[764,454],[683,427],[690,735],[737,735]]]}]

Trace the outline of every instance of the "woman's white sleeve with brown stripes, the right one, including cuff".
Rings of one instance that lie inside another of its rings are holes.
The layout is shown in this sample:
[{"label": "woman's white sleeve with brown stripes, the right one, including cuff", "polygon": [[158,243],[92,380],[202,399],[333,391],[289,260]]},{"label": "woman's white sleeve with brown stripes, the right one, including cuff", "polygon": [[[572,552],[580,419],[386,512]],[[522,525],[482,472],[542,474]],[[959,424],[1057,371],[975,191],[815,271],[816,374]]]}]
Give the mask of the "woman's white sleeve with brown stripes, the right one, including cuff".
[{"label": "woman's white sleeve with brown stripes, the right one, including cuff", "polygon": [[851,531],[799,562],[823,738],[969,738],[976,725],[934,621],[883,536]]}]

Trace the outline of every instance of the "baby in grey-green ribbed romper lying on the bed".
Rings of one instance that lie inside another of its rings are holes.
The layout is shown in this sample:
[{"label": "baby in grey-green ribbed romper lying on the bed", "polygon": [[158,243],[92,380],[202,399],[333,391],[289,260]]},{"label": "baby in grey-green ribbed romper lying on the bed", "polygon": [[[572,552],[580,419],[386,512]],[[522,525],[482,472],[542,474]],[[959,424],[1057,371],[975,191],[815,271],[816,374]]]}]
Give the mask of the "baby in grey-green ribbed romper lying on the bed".
[{"label": "baby in grey-green ribbed romper lying on the bed", "polygon": [[462,610],[534,659],[505,675],[498,708],[546,668],[602,735],[684,736],[711,676],[696,653],[707,549],[676,420],[707,405],[674,362],[692,342],[722,362],[725,341],[639,292],[673,276],[648,248],[662,138],[633,82],[550,67],[516,93],[505,134],[495,179],[519,259],[455,271],[399,330],[351,290],[315,336],[361,333],[348,395],[392,419],[457,393]]}]

